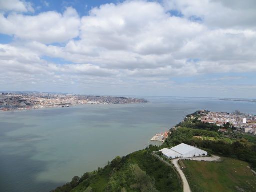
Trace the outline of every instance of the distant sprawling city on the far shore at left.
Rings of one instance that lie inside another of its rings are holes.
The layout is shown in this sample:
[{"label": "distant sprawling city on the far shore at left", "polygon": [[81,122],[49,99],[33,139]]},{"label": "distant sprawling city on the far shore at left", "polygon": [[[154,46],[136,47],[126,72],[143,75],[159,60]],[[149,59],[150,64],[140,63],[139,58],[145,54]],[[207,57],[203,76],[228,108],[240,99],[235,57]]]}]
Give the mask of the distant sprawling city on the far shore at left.
[{"label": "distant sprawling city on the far shore at left", "polygon": [[145,99],[50,93],[0,93],[0,111],[48,107],[69,107],[78,104],[144,103]]}]

